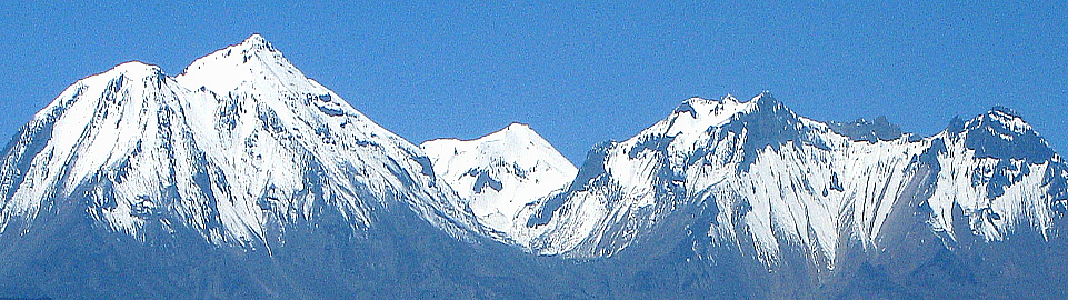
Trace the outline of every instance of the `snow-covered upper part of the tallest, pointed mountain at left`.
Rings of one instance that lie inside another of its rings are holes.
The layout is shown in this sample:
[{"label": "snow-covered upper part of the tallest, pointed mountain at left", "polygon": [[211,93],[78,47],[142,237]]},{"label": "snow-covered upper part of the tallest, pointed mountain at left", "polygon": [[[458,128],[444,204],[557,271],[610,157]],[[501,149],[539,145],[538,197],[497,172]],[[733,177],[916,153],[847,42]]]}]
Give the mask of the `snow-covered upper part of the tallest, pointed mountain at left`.
[{"label": "snow-covered upper part of the tallest, pointed mountain at left", "polygon": [[355,233],[398,209],[477,230],[422,150],[259,34],[178,77],[128,62],[79,80],[2,156],[0,237],[70,211],[142,240],[190,231],[251,248],[325,220]]}]

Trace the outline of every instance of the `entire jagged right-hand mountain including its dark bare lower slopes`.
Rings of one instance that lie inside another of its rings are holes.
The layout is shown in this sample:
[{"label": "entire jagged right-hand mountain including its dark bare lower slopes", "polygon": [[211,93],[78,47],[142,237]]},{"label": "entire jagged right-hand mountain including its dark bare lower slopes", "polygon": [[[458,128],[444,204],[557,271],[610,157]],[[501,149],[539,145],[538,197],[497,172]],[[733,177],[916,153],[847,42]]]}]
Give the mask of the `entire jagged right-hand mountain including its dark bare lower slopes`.
[{"label": "entire jagged right-hand mountain including its dark bare lower slopes", "polygon": [[628,261],[665,293],[710,290],[693,276],[756,298],[1066,296],[1037,280],[1065,279],[1066,164],[1017,114],[854,127],[769,93],[689,99],[517,222],[533,252]]}]

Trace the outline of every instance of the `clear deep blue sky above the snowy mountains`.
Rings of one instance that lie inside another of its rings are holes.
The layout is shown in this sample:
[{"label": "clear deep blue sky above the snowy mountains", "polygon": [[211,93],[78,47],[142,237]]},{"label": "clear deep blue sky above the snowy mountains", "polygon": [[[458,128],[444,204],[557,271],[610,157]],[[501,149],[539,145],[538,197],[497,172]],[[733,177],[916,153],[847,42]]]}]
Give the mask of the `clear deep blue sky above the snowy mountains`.
[{"label": "clear deep blue sky above the snowy mountains", "polygon": [[416,143],[520,121],[581,163],[688,97],[770,90],[802,116],[885,114],[924,134],[1004,104],[1068,150],[1061,1],[12,2],[0,8],[4,140],[82,77],[129,60],[177,74],[259,32]]}]

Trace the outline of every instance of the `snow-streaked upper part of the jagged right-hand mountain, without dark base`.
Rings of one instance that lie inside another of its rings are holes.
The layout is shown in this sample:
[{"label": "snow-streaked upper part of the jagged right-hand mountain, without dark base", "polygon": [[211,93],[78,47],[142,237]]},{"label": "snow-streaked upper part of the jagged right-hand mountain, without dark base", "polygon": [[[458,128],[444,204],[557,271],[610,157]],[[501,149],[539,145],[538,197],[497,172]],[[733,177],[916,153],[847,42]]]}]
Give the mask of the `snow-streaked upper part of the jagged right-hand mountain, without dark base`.
[{"label": "snow-streaked upper part of the jagged right-hand mountain, without dark base", "polygon": [[[612,256],[679,207],[707,203],[703,247],[751,248],[768,268],[785,249],[822,269],[850,244],[901,242],[905,216],[947,243],[1056,231],[1068,174],[1018,117],[995,109],[930,138],[856,138],[786,108],[690,99],[669,118],[590,152],[570,188],[520,213],[546,254]],[[912,211],[918,208],[919,211]],[[954,210],[960,210],[955,213]],[[967,232],[957,232],[962,221]]]}]

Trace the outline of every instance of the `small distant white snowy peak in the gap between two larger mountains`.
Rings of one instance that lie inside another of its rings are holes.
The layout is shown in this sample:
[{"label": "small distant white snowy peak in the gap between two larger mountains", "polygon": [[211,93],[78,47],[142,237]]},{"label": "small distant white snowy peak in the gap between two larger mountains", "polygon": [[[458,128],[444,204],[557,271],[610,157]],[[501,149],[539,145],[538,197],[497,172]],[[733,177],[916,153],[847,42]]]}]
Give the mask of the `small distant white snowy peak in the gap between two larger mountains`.
[{"label": "small distant white snowy peak in the gap between two larger mountains", "polygon": [[577,169],[529,126],[512,123],[473,140],[423,142],[435,173],[469,201],[479,221],[501,232],[520,208],[571,182]]}]

